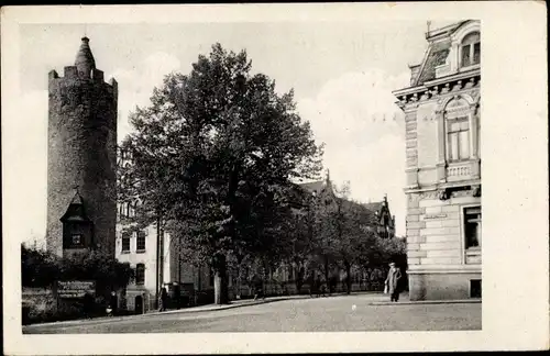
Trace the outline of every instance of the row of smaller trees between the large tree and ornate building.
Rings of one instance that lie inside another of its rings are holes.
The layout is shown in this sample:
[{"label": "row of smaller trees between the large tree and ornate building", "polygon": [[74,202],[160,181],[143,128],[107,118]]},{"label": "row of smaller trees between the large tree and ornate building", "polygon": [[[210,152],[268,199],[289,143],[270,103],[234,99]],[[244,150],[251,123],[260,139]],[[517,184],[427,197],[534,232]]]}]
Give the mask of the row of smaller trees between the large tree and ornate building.
[{"label": "row of smaller trees between the large tree and ornate building", "polygon": [[336,187],[327,188],[324,194],[307,197],[306,204],[288,219],[288,229],[277,241],[278,248],[271,251],[272,269],[280,262],[293,266],[297,290],[316,274],[329,283],[339,279],[339,271],[343,270],[349,293],[353,270],[366,274],[384,270],[389,262],[406,264],[405,242],[381,237],[377,216],[348,199],[349,187],[337,193],[332,190]]}]

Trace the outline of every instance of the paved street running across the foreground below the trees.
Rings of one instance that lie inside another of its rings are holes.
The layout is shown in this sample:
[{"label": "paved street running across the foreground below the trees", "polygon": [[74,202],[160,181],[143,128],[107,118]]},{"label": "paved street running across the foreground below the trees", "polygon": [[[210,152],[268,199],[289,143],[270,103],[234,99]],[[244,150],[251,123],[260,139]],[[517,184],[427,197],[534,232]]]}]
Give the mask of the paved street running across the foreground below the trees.
[{"label": "paved street running across the foreground below the trees", "polygon": [[218,311],[30,325],[23,333],[449,331],[482,326],[481,303],[373,304],[381,297],[290,299]]}]

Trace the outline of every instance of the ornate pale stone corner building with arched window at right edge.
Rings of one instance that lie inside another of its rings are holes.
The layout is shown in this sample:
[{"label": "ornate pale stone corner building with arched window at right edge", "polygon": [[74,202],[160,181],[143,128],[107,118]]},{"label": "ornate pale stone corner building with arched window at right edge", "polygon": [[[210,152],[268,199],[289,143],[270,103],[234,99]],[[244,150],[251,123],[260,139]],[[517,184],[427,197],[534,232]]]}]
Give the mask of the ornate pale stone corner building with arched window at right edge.
[{"label": "ornate pale stone corner building with arched window at right edge", "polygon": [[405,113],[407,255],[411,300],[481,297],[481,25],[426,34],[394,91]]}]

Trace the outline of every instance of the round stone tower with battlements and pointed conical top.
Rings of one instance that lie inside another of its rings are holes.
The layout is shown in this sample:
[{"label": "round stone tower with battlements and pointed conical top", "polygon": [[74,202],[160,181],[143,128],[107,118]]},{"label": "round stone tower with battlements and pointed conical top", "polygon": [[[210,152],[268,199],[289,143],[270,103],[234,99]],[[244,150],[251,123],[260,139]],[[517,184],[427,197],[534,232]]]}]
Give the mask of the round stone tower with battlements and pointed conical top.
[{"label": "round stone tower with battlements and pointed conical top", "polygon": [[103,81],[89,38],[63,77],[50,71],[48,97],[46,247],[114,257],[118,85]]}]

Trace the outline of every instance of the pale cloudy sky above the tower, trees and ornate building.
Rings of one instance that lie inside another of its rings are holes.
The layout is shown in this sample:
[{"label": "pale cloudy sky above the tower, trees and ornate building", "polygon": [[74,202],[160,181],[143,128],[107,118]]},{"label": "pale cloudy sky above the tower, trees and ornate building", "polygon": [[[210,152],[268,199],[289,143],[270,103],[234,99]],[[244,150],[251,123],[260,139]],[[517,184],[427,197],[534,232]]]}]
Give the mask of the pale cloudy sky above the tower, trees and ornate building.
[{"label": "pale cloudy sky above the tower, trees and ornate building", "polygon": [[8,193],[28,202],[15,207],[24,216],[21,237],[45,234],[47,73],[73,65],[85,33],[97,67],[119,82],[119,141],[131,130],[129,112],[147,104],[166,74],[189,73],[216,42],[245,48],[253,71],[275,79],[279,92],[295,89],[302,120],[326,143],[332,180],[349,181],[352,198],[363,202],[387,193],[404,235],[405,131],[392,90],[408,85],[408,64],[419,63],[427,47],[426,30],[425,21],[20,26],[21,115],[10,125],[21,141],[10,144],[31,174],[21,177],[24,189]]}]

